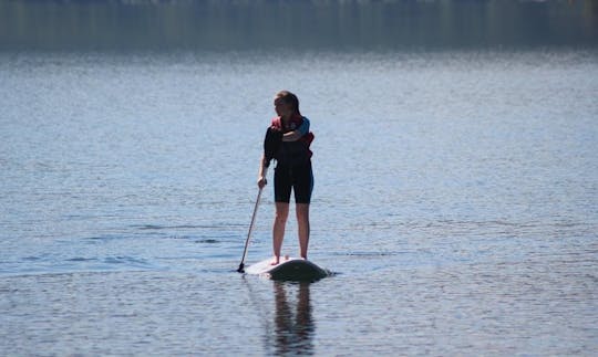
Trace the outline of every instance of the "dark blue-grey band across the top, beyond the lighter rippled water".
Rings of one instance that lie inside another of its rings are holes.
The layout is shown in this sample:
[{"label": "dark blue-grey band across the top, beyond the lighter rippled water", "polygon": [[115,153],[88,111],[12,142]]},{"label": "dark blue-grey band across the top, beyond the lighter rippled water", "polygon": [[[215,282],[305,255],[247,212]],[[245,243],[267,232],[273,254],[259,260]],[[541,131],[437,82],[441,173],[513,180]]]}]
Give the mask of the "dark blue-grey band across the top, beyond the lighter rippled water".
[{"label": "dark blue-grey band across the top, beyond the lighter rippled water", "polygon": [[0,45],[347,51],[597,45],[592,0],[1,1]]}]

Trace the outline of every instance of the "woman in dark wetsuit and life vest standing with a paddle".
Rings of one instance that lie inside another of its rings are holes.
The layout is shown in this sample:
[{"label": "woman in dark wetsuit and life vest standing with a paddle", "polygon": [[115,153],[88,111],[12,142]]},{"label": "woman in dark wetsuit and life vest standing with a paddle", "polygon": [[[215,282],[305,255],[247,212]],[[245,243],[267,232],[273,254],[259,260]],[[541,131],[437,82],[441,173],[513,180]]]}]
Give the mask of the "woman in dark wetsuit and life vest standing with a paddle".
[{"label": "woman in dark wetsuit and life vest standing with a paddle", "polygon": [[280,262],[280,250],[285,238],[285,227],[289,216],[291,190],[295,193],[299,246],[302,259],[307,260],[309,244],[309,203],[313,189],[311,150],[313,134],[309,132],[309,119],[299,112],[299,99],[288,91],[276,94],[272,119],[264,141],[264,156],[259,165],[258,187],[266,186],[266,168],[276,160],[275,201],[276,217],[272,227],[272,265]]}]

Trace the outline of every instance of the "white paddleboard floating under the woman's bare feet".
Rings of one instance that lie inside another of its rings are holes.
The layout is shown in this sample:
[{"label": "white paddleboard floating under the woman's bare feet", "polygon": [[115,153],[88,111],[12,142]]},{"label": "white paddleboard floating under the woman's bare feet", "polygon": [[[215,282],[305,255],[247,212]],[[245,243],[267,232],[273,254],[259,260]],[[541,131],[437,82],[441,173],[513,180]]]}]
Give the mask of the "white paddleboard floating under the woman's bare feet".
[{"label": "white paddleboard floating under the woman's bare feet", "polygon": [[330,275],[330,272],[315,263],[298,259],[280,259],[280,263],[271,265],[272,259],[252,264],[245,270],[247,274],[267,276],[271,280],[282,281],[316,281]]}]

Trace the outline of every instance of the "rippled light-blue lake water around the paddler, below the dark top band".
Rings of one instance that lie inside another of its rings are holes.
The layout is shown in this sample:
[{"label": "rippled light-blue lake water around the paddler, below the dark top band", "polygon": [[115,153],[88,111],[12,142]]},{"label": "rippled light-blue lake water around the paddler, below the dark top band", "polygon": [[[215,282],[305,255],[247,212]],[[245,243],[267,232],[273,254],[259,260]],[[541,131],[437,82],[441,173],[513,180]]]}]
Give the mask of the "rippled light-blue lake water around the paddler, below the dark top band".
[{"label": "rippled light-blue lake water around the paddler, below the dark top band", "polygon": [[[235,272],[282,88],[315,283]],[[597,97],[592,46],[0,52],[0,353],[597,355]]]}]

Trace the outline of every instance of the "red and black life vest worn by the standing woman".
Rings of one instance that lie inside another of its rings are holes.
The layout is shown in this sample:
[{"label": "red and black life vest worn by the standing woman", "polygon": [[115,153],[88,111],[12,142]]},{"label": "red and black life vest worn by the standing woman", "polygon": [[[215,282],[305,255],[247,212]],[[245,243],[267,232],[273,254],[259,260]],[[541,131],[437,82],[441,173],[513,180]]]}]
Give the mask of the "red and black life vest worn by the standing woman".
[{"label": "red and black life vest worn by the standing woman", "polygon": [[[303,124],[301,115],[293,115],[287,127],[282,126],[280,117],[272,119],[271,128],[282,134],[298,129]],[[282,141],[279,150],[274,156],[279,164],[295,165],[309,160],[313,153],[309,149],[315,135],[309,132],[296,141]]]}]

